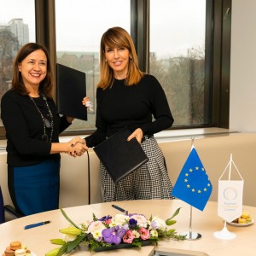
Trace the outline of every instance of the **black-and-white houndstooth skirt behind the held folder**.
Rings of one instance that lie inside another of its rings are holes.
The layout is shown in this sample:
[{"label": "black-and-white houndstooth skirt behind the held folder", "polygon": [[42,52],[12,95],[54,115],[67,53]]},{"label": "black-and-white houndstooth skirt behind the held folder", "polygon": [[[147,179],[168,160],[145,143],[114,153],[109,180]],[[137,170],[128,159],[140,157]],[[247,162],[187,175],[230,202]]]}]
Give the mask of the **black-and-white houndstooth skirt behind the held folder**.
[{"label": "black-and-white houndstooth skirt behind the held folder", "polygon": [[119,183],[113,183],[106,168],[100,164],[103,201],[174,199],[164,155],[156,139],[146,138],[141,145],[148,162]]}]

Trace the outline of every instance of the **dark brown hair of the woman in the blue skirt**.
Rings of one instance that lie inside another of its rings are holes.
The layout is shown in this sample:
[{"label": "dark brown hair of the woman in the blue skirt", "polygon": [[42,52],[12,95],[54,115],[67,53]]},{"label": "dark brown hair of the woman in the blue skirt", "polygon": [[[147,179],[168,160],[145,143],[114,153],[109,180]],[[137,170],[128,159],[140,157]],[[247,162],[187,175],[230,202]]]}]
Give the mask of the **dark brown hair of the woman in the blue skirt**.
[{"label": "dark brown hair of the woman in the blue skirt", "polygon": [[44,80],[39,85],[39,90],[44,93],[45,96],[52,96],[52,88],[54,84],[53,73],[51,70],[51,65],[49,62],[49,53],[48,50],[41,44],[37,43],[28,43],[23,45],[18,51],[14,66],[13,66],[13,79],[12,79],[12,89],[20,93],[20,95],[27,95],[28,91],[26,90],[26,86],[23,82],[21,73],[19,71],[19,64],[23,61],[27,55],[30,55],[35,50],[42,49],[44,54],[46,55],[47,60],[47,73]]}]

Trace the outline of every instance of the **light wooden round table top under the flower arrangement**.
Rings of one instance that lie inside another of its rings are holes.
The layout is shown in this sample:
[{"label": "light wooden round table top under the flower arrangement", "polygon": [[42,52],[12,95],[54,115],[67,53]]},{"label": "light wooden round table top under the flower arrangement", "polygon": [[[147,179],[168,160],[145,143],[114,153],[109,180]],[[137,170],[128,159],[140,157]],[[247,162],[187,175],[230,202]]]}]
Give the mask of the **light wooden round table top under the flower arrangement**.
[{"label": "light wooden round table top under the flower arrangement", "polygon": [[[119,249],[108,252],[90,253],[81,249],[70,255],[154,255],[154,252],[161,253],[183,253],[188,255],[254,255],[256,250],[256,226],[255,224],[245,227],[236,227],[226,225],[230,232],[236,234],[236,238],[230,240],[218,239],[213,234],[224,228],[224,221],[218,217],[218,203],[208,201],[204,211],[201,212],[179,200],[138,200],[138,201],[116,201],[108,203],[99,203],[79,207],[68,207],[64,211],[75,224],[80,224],[92,218],[93,213],[97,218],[105,215],[115,215],[121,213],[112,205],[124,208],[129,213],[143,213],[148,218],[151,215],[157,215],[166,219],[172,217],[172,214],[181,207],[179,214],[174,218],[177,223],[172,227],[176,229],[177,234],[183,232],[193,232],[201,235],[198,240],[160,241],[157,247],[145,246],[141,249],[137,247],[129,249]],[[250,212],[251,216],[256,218],[256,207],[243,207],[244,211]],[[189,225],[191,215],[191,226]],[[34,224],[42,221],[50,221],[39,227],[24,230],[27,224]],[[11,241],[21,241],[32,250],[37,256],[43,256],[50,249],[57,247],[50,243],[50,239],[61,238],[59,230],[66,228],[68,222],[60,210],[41,212],[24,218],[17,218],[4,224],[0,224],[0,255]]]}]

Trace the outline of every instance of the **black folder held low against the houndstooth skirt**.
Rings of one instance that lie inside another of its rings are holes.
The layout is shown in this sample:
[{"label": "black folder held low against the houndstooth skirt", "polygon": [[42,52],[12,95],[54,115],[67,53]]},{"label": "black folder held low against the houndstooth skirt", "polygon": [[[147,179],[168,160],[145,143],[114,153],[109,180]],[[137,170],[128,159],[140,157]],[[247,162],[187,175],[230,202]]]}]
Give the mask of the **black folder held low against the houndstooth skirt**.
[{"label": "black folder held low against the houndstooth skirt", "polygon": [[131,131],[125,127],[93,148],[114,183],[148,161],[147,155],[135,137],[127,142],[127,137],[130,135]]}]

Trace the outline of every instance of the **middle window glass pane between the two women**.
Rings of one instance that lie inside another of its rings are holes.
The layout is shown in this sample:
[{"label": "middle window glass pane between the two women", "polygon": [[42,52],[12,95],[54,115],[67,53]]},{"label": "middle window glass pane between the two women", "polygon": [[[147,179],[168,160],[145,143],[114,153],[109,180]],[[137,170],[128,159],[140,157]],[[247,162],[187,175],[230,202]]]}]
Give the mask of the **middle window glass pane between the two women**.
[{"label": "middle window glass pane between the two women", "polygon": [[[131,31],[130,5],[131,0],[55,0],[57,62],[86,74],[86,94],[94,110],[102,34],[112,26]],[[75,119],[66,131],[95,129],[95,121],[95,111],[90,111],[87,121]]]}]

